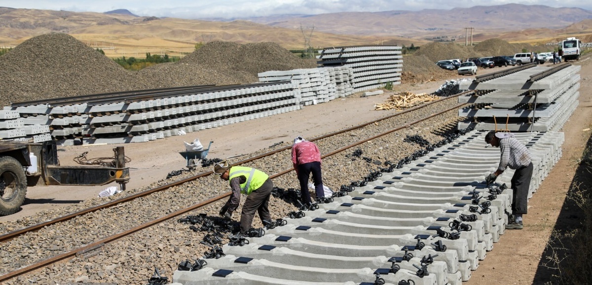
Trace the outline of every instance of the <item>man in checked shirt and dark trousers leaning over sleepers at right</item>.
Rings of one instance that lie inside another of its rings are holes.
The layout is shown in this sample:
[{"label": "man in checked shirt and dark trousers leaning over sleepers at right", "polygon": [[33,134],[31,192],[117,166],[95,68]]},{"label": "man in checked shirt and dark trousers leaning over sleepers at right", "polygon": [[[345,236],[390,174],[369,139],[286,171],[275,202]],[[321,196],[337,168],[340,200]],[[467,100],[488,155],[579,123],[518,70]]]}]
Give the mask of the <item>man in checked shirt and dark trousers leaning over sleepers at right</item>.
[{"label": "man in checked shirt and dark trousers leaning over sleepers at right", "polygon": [[522,229],[522,215],[527,213],[528,193],[533,171],[532,155],[528,148],[516,140],[514,134],[510,132],[490,131],[485,135],[485,143],[499,147],[501,151],[497,170],[485,177],[487,184],[495,182],[507,167],[515,170],[511,179],[511,189],[514,190],[512,197],[513,218],[510,217],[506,229]]}]

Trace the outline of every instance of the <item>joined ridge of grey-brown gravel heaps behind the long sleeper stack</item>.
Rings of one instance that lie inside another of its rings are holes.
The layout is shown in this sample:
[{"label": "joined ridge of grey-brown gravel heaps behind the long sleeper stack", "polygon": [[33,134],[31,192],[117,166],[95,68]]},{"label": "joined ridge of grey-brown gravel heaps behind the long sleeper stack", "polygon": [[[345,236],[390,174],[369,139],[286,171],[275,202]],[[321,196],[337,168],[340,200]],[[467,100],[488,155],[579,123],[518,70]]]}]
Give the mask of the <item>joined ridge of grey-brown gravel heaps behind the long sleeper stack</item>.
[{"label": "joined ridge of grey-brown gravel heaps behind the long sleeper stack", "polygon": [[131,72],[63,33],[39,35],[0,57],[0,105],[129,90],[258,82],[268,70],[314,68],[275,43],[205,44],[176,63]]}]

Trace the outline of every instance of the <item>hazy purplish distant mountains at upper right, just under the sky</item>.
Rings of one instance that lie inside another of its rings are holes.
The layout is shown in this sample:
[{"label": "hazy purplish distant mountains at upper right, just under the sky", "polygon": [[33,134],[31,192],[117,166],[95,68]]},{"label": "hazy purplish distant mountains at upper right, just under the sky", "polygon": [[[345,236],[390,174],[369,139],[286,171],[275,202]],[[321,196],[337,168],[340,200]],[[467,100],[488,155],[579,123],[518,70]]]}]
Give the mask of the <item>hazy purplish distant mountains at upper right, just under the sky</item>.
[{"label": "hazy purplish distant mountains at upper right, just under the sky", "polygon": [[[340,12],[319,15],[275,15],[248,20],[273,27],[314,26],[334,34],[381,35],[424,40],[459,40],[465,34],[490,35],[526,29],[558,29],[592,19],[592,11],[544,5],[506,4],[420,11]],[[469,30],[468,28],[473,28]]]}]

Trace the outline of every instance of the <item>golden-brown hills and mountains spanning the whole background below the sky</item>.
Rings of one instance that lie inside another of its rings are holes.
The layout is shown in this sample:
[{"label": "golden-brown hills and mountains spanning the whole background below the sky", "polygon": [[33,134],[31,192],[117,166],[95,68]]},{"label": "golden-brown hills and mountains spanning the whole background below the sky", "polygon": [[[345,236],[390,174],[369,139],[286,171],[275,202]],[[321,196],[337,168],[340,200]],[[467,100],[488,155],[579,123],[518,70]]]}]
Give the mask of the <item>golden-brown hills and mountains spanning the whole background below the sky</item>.
[{"label": "golden-brown hills and mountains spanning the whole background below the sky", "polygon": [[288,49],[431,41],[554,43],[578,36],[592,42],[592,11],[506,4],[421,11],[276,15],[222,21],[138,17],[126,9],[106,13],[0,7],[0,47],[51,32],[67,33],[108,56],[186,54],[196,43],[272,41]]}]

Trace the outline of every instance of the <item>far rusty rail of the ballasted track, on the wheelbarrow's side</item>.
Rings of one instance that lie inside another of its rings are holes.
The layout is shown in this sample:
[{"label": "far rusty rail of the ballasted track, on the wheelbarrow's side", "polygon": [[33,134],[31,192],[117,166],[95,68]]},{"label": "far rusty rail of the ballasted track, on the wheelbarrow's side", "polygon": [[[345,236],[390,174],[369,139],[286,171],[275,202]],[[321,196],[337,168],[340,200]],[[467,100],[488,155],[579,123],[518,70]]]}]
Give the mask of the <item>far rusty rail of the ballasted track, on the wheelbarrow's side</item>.
[{"label": "far rusty rail of the ballasted track, on the wheelbarrow's side", "polygon": [[[442,102],[442,101],[446,101],[448,99],[456,98],[458,96],[464,95],[464,94],[469,93],[469,92],[471,92],[471,91],[462,92],[462,93],[459,93],[459,94],[456,94],[456,95],[452,95],[452,96],[448,96],[446,98],[442,98],[442,99],[439,99],[439,100],[436,100],[436,101],[428,102],[428,103],[425,103],[423,105],[419,105],[419,106],[415,106],[415,107],[410,108],[410,109],[406,109],[406,110],[401,111],[401,112],[398,112],[396,114],[384,116],[382,118],[378,118],[378,119],[375,119],[375,120],[370,121],[370,122],[365,122],[363,124],[356,125],[354,127],[341,129],[339,131],[332,132],[332,133],[329,133],[329,134],[326,134],[326,135],[321,135],[320,137],[312,138],[309,141],[317,141],[317,140],[321,140],[323,138],[332,137],[334,135],[342,134],[343,132],[352,131],[353,129],[362,128],[362,127],[365,127],[366,125],[374,124],[375,122],[384,121],[385,119],[390,119],[390,118],[392,118],[394,116],[400,116],[400,115],[406,114],[408,112],[416,111],[417,109],[425,108],[426,106],[429,106],[429,105],[432,105],[432,104],[435,104],[435,103],[438,103],[438,102]],[[280,151],[288,150],[291,147],[292,147],[291,145],[288,145],[287,147],[282,147],[282,148],[278,148],[277,150],[268,151],[267,153],[260,154],[259,156],[254,156],[254,157],[246,158],[245,160],[242,160],[242,161],[238,161],[237,163],[234,163],[234,165],[244,164],[244,163],[248,163],[248,162],[253,161],[253,160],[258,160],[259,158],[263,158],[263,157],[266,157],[266,156],[271,156],[272,154],[279,153]],[[8,232],[7,234],[0,235],[0,242],[9,241],[10,239],[16,238],[19,235],[26,234],[27,232],[38,231],[39,229],[41,229],[41,228],[43,228],[45,226],[57,224],[59,222],[64,222],[64,221],[67,221],[69,219],[76,218],[77,216],[81,216],[81,215],[85,215],[86,213],[91,213],[91,212],[95,212],[97,210],[109,208],[109,207],[118,205],[120,203],[126,203],[126,202],[128,202],[130,200],[137,199],[137,198],[143,197],[143,196],[147,196],[147,195],[150,195],[152,193],[159,192],[159,191],[162,191],[162,190],[166,190],[166,189],[169,189],[170,187],[178,186],[180,184],[183,184],[183,183],[186,183],[186,182],[189,182],[189,181],[192,181],[192,180],[196,180],[196,179],[198,179],[200,177],[205,177],[205,176],[208,176],[208,175],[211,175],[211,174],[213,174],[213,171],[211,171],[211,170],[210,171],[205,171],[205,172],[202,172],[202,173],[198,173],[195,176],[187,177],[185,179],[178,180],[178,181],[175,181],[175,182],[172,182],[172,183],[168,183],[168,184],[165,184],[165,185],[162,185],[162,186],[153,188],[153,189],[148,189],[146,191],[143,191],[143,192],[140,192],[140,193],[136,193],[134,195],[130,195],[130,196],[126,196],[126,197],[121,197],[119,199],[112,200],[112,201],[110,201],[108,203],[104,203],[104,204],[101,204],[101,205],[96,205],[96,206],[91,207],[91,208],[82,209],[82,210],[79,210],[78,212],[70,213],[70,214],[65,215],[65,216],[60,216],[58,218],[51,219],[51,220],[46,221],[46,222],[43,222],[41,224],[31,225],[31,226],[27,226],[26,228],[22,228],[22,229],[18,229],[16,231]]]}]

